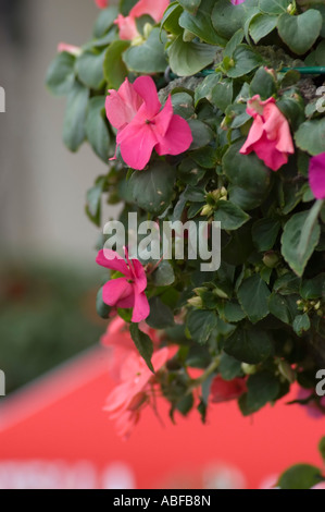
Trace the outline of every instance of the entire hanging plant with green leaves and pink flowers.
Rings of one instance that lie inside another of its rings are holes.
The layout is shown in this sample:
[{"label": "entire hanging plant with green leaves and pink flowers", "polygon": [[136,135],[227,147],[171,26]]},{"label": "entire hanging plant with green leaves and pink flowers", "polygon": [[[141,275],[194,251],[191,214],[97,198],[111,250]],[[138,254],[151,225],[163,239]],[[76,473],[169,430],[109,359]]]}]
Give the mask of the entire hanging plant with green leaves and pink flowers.
[{"label": "entire hanging plant with green leaves and pink flowers", "polygon": [[97,3],[91,40],[61,44],[47,85],[67,97],[65,145],[87,141],[105,166],[86,211],[118,431],[157,394],[204,422],[293,382],[324,414],[324,2]]}]

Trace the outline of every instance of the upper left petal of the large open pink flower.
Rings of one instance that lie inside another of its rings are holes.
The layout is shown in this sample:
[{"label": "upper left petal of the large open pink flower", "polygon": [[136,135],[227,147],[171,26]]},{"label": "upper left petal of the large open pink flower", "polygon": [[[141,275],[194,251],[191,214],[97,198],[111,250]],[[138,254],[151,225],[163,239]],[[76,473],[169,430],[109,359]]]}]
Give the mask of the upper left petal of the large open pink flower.
[{"label": "upper left petal of the large open pink flower", "polygon": [[143,100],[127,78],[117,92],[110,89],[109,93],[110,96],[107,97],[105,101],[107,117],[112,126],[121,130],[132,122]]}]

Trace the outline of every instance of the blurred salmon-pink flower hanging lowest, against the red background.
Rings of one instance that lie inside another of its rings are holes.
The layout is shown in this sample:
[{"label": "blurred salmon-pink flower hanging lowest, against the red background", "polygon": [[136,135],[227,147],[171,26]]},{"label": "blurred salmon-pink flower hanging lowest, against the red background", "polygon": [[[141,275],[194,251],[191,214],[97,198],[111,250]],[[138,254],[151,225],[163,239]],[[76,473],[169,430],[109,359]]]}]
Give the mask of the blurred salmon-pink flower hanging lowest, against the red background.
[{"label": "blurred salmon-pink flower hanging lowest, against the red background", "polygon": [[[152,356],[154,371],[170,358],[170,350],[161,349]],[[140,417],[140,410],[150,402],[155,377],[137,353],[130,353],[121,368],[122,382],[109,395],[105,411],[116,419],[116,430],[127,439]]]}]

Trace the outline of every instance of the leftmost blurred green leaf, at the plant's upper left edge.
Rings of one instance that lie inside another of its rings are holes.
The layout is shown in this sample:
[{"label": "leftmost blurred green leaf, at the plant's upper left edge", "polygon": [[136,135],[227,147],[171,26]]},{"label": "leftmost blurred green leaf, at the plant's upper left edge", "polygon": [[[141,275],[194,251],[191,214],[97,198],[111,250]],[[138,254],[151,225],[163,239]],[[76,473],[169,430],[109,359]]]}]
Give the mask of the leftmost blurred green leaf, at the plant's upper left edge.
[{"label": "leftmost blurred green leaf, at the plant's upper left edge", "polygon": [[55,96],[67,95],[75,83],[76,58],[66,51],[58,53],[51,63],[46,78],[49,90]]}]

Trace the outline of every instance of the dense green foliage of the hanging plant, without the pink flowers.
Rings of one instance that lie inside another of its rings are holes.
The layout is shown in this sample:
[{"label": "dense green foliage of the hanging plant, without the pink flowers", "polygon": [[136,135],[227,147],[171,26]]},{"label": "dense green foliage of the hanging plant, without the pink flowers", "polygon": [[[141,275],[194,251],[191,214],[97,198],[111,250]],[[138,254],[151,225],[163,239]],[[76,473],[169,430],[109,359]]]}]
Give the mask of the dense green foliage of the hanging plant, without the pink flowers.
[{"label": "dense green foliage of the hanging plant, without the pink flowers", "polygon": [[[173,409],[186,414],[192,407],[186,369],[193,366],[213,368],[225,380],[248,376],[239,405],[251,414],[284,397],[295,380],[313,390],[325,363],[325,210],[308,183],[310,157],[325,151],[316,96],[323,78],[292,70],[325,65],[325,7],[321,0],[246,0],[236,7],[179,0],[160,25],[137,20],[141,37],[133,44],[118,38],[114,20],[135,3],[122,0],[118,11],[103,10],[91,41],[78,57],[59,53],[47,83],[52,93],[67,95],[67,147],[77,150],[88,139],[107,164],[115,150],[104,113],[108,88],[151,74],[162,102],[172,94],[174,112],[192,131],[189,150],[152,156],[143,171],[128,170],[117,156],[88,191],[87,214],[101,225],[105,195],[110,204],[125,204],[126,227],[129,211],[142,220],[221,221],[217,271],[201,272],[199,260],[171,259],[150,273],[148,324],[179,345],[162,381]],[[277,172],[255,154],[239,154],[251,125],[246,103],[254,95],[273,96],[293,134],[296,153]],[[98,309],[108,317],[101,294]],[[129,312],[120,314],[129,321]],[[150,362],[150,342],[139,332],[133,327]],[[213,375],[208,370],[202,386],[203,417]],[[318,398],[311,391],[310,400]]]}]

